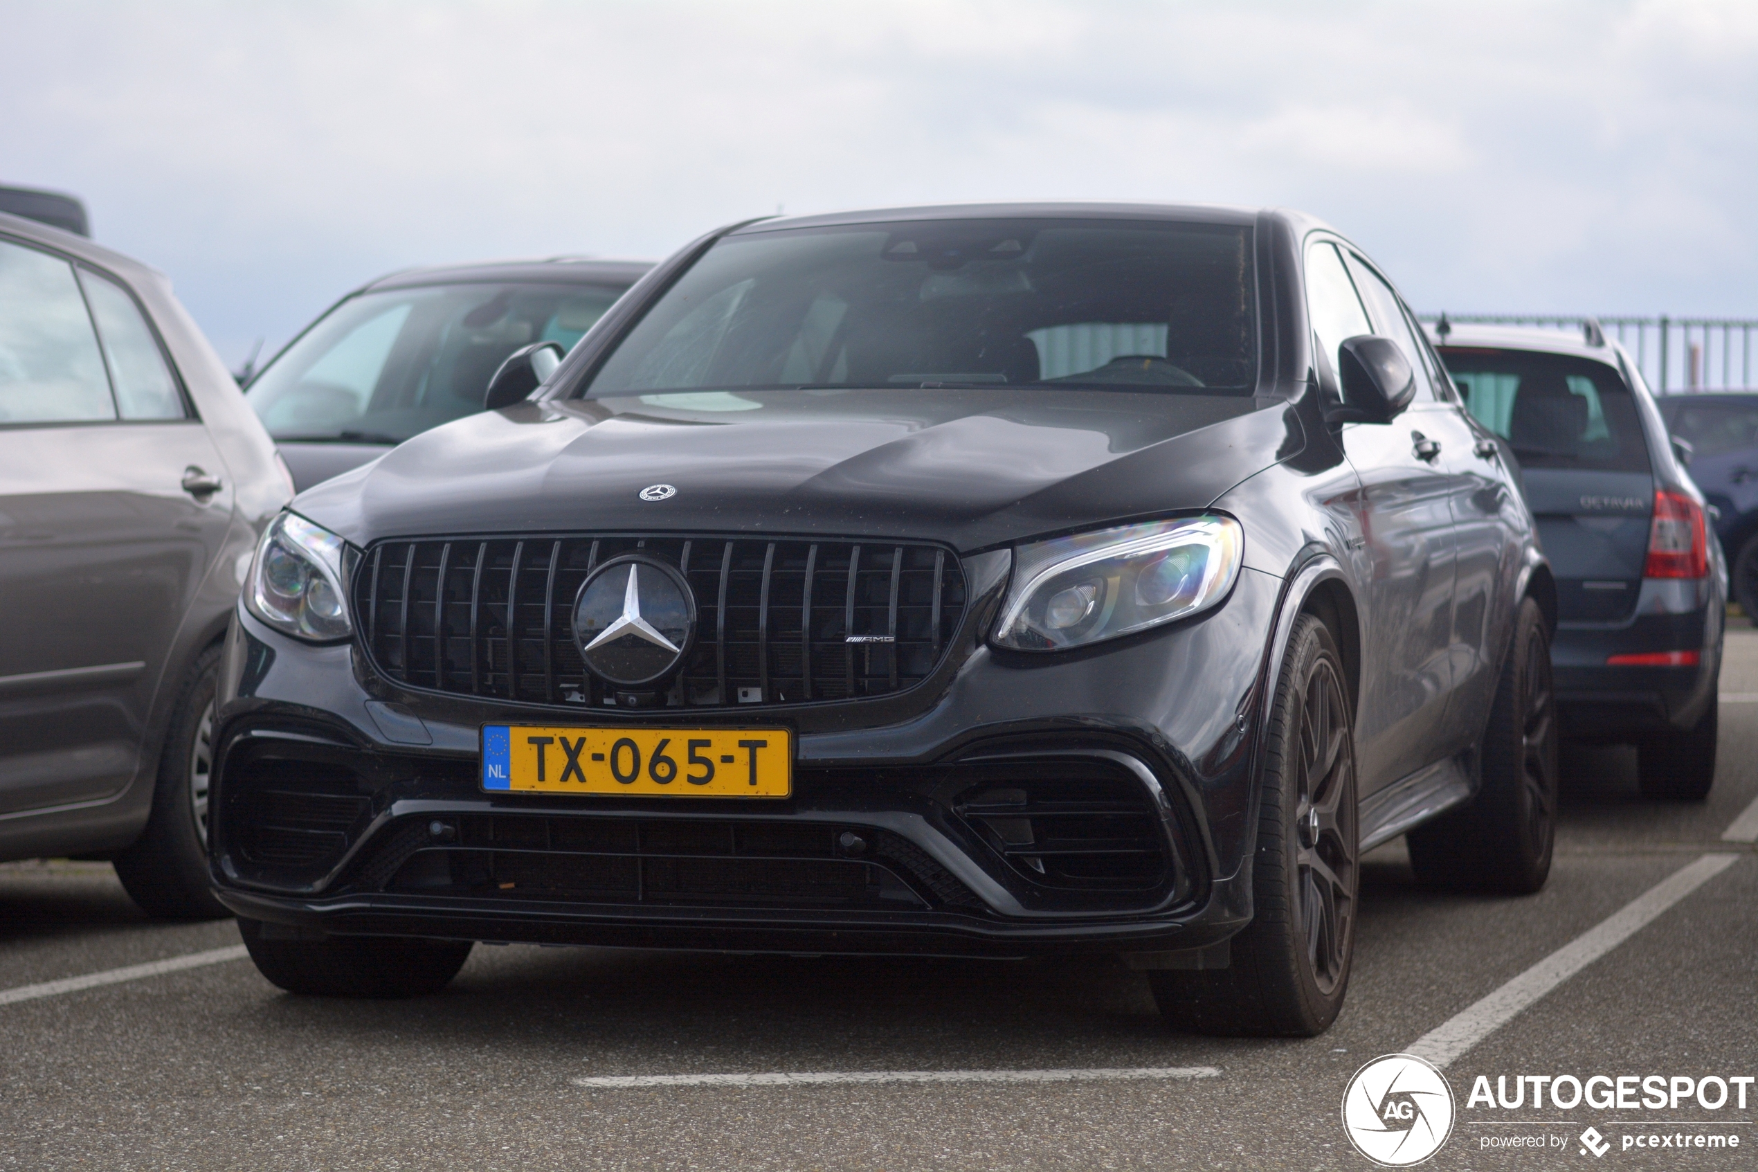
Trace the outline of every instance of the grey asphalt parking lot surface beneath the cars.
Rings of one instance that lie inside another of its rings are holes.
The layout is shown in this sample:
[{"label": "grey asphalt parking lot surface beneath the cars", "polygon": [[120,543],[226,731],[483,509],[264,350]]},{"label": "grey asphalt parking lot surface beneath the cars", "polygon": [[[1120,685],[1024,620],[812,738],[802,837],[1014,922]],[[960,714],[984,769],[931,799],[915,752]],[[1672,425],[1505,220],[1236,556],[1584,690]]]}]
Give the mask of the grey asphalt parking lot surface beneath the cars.
[{"label": "grey asphalt parking lot surface beneath the cars", "polygon": [[[1547,988],[1559,949],[1577,970],[1447,1065],[1457,1123],[1427,1167],[1751,1167],[1758,1086],[1718,1111],[1466,1103],[1478,1075],[1758,1074],[1758,859],[1723,838],[1758,799],[1747,624],[1721,687],[1705,805],[1642,801],[1630,750],[1565,754],[1538,896],[1429,894],[1401,842],[1369,856],[1348,1003],[1311,1040],[1167,1033],[1146,980],[1111,965],[515,945],[478,947],[438,996],[302,1000],[197,956],[236,947],[230,922],[148,922],[107,865],[0,866],[0,1168],[1361,1168],[1338,1118],[1350,1074],[1433,1053],[1445,1023],[1478,1037],[1498,1019],[1480,1000]],[[1603,956],[1566,952],[1705,854],[1732,861]],[[192,956],[209,963],[67,988]],[[872,1081],[640,1082],[826,1072]],[[1577,1142],[1589,1125],[1603,1158]],[[1661,1132],[1742,1144],[1621,1147]],[[1514,1135],[1551,1146],[1486,1147]]]}]

